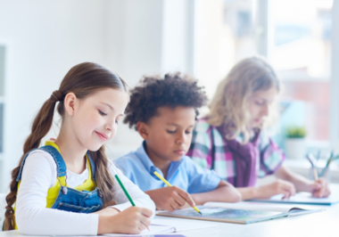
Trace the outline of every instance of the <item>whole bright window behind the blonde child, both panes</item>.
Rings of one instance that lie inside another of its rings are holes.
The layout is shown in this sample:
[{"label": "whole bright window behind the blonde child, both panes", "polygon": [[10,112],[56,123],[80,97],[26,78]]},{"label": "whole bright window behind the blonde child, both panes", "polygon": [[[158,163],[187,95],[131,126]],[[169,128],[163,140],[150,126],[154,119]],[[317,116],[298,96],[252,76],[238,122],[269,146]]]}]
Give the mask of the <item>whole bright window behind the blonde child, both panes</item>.
[{"label": "whole bright window behind the blonde child, both panes", "polygon": [[283,82],[284,128],[304,126],[308,143],[328,146],[333,0],[196,1],[194,76],[211,98],[237,61],[262,54]]}]

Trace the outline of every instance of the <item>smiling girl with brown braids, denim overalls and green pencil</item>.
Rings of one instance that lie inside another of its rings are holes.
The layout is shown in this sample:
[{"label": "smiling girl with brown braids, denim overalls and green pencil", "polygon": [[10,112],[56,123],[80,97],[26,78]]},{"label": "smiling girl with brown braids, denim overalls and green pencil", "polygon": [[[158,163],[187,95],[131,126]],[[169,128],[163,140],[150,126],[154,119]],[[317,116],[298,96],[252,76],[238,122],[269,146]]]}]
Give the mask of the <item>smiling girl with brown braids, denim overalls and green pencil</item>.
[{"label": "smiling girl with brown braids, denim overalls and green pencil", "polygon": [[[60,133],[38,148],[52,126],[56,103]],[[104,154],[127,104],[127,85],[111,71],[91,62],[70,69],[37,113],[19,166],[12,170],[5,230],[97,235],[141,233],[150,225],[153,201]],[[130,207],[115,175],[136,207]]]}]

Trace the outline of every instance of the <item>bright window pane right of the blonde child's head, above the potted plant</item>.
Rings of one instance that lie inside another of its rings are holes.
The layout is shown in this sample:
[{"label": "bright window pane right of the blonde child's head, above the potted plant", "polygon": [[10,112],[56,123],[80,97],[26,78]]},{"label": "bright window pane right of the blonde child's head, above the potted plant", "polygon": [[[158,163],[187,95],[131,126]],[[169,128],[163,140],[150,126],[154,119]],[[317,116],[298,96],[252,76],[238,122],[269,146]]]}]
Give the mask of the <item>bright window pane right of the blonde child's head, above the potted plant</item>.
[{"label": "bright window pane right of the blonde child's head, above the potted plant", "polygon": [[307,139],[328,142],[332,1],[269,1],[269,61],[291,110],[284,126],[305,126]]}]

